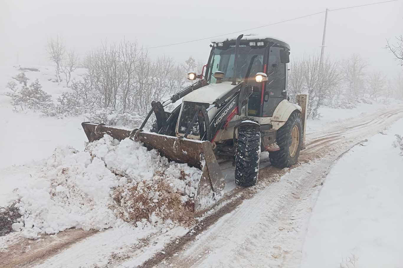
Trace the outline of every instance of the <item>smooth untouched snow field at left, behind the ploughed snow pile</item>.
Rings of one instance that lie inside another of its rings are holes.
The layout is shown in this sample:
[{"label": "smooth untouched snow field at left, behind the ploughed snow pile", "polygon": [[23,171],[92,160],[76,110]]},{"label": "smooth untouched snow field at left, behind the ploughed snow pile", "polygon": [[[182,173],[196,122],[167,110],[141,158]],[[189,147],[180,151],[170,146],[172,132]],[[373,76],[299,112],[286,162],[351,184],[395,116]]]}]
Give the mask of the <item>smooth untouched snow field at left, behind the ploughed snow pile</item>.
[{"label": "smooth untouched snow field at left, behind the ploughed snow pile", "polygon": [[1,95],[0,114],[0,169],[47,158],[56,146],[84,148],[83,116],[57,119],[32,111],[15,113],[10,97]]}]

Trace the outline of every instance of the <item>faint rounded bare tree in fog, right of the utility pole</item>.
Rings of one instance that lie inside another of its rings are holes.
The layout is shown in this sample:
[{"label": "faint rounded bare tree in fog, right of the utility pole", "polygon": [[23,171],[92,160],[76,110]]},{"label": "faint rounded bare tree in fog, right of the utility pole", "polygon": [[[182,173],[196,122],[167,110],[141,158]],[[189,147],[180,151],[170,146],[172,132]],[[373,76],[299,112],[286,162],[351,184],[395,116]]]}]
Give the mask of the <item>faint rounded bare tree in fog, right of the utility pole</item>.
[{"label": "faint rounded bare tree in fog, right of the utility pole", "polygon": [[364,94],[366,67],[368,64],[358,54],[353,54],[341,63],[341,78],[347,85],[347,92],[356,101]]}]

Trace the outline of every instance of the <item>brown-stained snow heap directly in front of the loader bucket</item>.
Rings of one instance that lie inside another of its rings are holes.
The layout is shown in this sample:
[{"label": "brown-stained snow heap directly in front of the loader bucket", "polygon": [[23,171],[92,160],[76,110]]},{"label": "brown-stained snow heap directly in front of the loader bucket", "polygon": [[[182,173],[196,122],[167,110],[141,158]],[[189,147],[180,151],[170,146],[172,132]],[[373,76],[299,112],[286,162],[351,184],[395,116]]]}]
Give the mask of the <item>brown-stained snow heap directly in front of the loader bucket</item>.
[{"label": "brown-stained snow heap directly in front of the loader bucket", "polygon": [[172,219],[185,225],[193,222],[193,198],[201,171],[186,164],[168,162],[158,151],[147,151],[137,142],[121,142],[110,136],[86,148],[93,157],[121,177],[113,199],[116,211],[125,221],[147,219],[160,224]]}]

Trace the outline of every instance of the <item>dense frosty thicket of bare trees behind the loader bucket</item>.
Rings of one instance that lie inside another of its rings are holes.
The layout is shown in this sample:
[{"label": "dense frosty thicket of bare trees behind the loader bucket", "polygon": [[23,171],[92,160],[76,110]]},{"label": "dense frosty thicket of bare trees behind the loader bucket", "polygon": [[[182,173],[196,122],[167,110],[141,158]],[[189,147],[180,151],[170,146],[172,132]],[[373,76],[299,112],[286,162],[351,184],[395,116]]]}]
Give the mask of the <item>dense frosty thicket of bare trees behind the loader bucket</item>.
[{"label": "dense frosty thicket of bare trees behind the loader bucket", "polygon": [[90,105],[108,113],[148,113],[152,101],[176,93],[186,81],[183,64],[166,56],[151,60],[137,42],[125,40],[93,50],[83,65],[88,71],[82,84],[73,86],[80,89],[80,98],[88,91],[90,96],[82,98],[93,100]]}]

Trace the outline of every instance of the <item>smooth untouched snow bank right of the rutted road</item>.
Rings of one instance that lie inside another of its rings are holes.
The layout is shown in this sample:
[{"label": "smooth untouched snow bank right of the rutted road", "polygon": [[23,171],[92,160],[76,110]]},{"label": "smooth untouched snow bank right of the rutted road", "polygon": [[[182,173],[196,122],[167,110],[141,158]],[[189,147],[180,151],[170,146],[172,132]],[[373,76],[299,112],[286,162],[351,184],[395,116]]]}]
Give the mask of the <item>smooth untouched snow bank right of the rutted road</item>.
[{"label": "smooth untouched snow bank right of the rutted road", "polygon": [[334,165],[311,214],[301,267],[402,267],[403,155],[395,134],[403,135],[403,120]]}]

